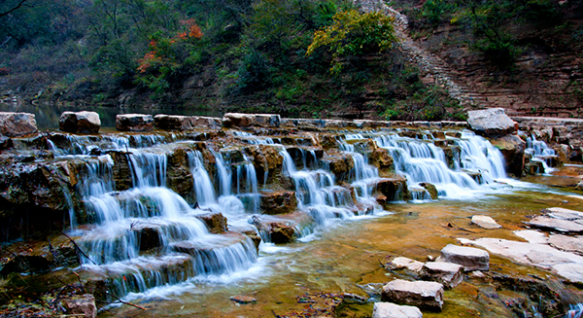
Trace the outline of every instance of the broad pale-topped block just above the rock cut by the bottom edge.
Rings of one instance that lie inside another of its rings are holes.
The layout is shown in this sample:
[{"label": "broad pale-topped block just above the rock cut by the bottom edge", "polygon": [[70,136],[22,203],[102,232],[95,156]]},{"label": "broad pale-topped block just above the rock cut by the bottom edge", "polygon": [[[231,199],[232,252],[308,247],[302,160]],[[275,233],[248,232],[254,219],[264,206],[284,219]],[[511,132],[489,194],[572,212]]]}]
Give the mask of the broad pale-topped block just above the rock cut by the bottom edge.
[{"label": "broad pale-topped block just above the rock cut by the bottom edge", "polygon": [[443,285],[436,282],[394,280],[383,287],[381,299],[397,304],[441,311]]}]

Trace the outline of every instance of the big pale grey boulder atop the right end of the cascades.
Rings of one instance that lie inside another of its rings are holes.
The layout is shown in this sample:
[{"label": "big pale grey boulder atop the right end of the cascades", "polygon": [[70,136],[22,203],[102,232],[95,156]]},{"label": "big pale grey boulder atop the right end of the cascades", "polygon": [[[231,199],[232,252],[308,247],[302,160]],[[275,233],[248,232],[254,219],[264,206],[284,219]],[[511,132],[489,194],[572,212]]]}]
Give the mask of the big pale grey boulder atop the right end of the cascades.
[{"label": "big pale grey boulder atop the right end of the cascades", "polygon": [[505,114],[503,108],[469,111],[468,124],[476,133],[486,137],[510,135],[518,129],[518,124]]}]

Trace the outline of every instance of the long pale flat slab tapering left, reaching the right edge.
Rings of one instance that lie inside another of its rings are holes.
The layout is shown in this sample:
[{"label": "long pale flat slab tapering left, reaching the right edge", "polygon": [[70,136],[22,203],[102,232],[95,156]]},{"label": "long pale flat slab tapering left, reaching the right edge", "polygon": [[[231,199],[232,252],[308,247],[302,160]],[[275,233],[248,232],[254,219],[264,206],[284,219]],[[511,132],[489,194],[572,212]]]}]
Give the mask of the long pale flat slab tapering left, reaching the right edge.
[{"label": "long pale flat slab tapering left, reaching the right edge", "polygon": [[573,282],[583,282],[583,257],[559,251],[547,244],[518,242],[497,238],[477,240],[458,239],[462,244],[472,244],[491,253],[507,257],[517,263],[550,270]]}]

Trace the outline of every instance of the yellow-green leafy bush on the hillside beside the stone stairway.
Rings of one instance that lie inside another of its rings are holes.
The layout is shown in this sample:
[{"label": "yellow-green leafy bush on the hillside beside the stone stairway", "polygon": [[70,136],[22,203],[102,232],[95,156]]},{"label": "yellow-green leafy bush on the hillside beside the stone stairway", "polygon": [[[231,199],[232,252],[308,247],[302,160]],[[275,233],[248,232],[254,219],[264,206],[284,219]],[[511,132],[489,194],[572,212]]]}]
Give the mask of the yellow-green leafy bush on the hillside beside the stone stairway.
[{"label": "yellow-green leafy bush on the hillside beside the stone stairway", "polygon": [[314,33],[306,55],[326,47],[332,53],[330,72],[338,74],[347,64],[346,58],[390,49],[397,41],[393,22],[393,18],[381,12],[339,11],[332,25]]}]

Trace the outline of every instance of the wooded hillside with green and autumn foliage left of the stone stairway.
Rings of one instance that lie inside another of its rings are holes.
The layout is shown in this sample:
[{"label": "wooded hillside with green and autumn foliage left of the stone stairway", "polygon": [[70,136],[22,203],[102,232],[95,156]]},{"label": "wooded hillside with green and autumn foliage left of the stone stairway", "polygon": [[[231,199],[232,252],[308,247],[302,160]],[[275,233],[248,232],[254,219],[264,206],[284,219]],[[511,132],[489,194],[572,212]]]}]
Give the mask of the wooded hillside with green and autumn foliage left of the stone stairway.
[{"label": "wooded hillside with green and autumn foliage left of the stone stairway", "polygon": [[394,49],[392,18],[362,14],[350,1],[25,0],[12,10],[19,2],[0,4],[3,96],[320,118],[456,118],[442,111],[455,102],[422,84]]}]

